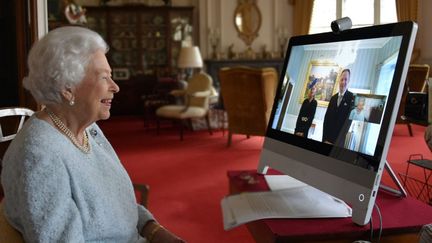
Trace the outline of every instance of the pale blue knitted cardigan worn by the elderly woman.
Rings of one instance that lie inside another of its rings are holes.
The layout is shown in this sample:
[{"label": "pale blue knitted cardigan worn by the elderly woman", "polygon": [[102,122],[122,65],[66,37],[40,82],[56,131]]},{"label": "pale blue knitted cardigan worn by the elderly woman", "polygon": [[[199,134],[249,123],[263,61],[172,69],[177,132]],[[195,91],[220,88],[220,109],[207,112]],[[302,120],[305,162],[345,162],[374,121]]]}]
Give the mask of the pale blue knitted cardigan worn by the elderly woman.
[{"label": "pale blue knitted cardigan worn by the elderly woman", "polygon": [[5,215],[26,242],[145,242],[151,213],[96,124],[85,154],[49,123],[32,116],[10,144],[2,184]]}]

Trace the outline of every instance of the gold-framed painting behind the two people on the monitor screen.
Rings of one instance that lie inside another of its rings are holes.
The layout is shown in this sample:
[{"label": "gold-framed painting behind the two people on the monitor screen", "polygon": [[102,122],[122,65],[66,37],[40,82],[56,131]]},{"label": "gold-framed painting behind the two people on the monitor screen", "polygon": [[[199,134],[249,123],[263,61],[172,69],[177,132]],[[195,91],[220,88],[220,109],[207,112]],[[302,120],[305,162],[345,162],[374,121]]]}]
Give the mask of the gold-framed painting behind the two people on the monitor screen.
[{"label": "gold-framed painting behind the two people on the monitor screen", "polygon": [[316,93],[315,99],[318,106],[327,107],[331,97],[337,93],[337,82],[339,80],[341,67],[330,61],[315,60],[309,63],[308,72],[306,74],[302,96],[299,102],[302,103],[308,97],[308,84],[314,79],[318,79],[315,84]]}]

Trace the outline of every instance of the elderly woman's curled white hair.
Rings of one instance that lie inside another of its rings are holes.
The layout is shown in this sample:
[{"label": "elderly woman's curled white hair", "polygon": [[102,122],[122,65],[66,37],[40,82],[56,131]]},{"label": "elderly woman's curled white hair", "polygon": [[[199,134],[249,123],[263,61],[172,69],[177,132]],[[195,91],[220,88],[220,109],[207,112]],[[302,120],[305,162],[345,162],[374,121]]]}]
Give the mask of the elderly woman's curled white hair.
[{"label": "elderly woman's curled white hair", "polygon": [[39,104],[61,103],[61,91],[83,80],[91,56],[99,50],[107,53],[108,45],[92,30],[76,26],[52,30],[31,48],[23,85]]}]

